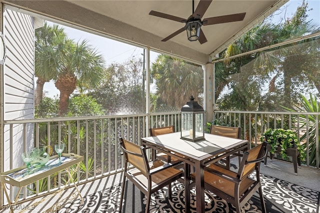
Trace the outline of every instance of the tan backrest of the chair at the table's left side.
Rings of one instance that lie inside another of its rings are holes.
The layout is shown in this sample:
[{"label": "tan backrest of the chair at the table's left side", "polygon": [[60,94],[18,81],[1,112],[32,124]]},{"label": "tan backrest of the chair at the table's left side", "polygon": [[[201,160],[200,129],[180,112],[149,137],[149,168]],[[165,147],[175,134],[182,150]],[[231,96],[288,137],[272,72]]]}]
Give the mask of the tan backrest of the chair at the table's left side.
[{"label": "tan backrest of the chair at the table's left side", "polygon": [[146,175],[149,168],[147,168],[144,148],[123,138],[120,138],[120,142],[126,162],[129,162]]}]

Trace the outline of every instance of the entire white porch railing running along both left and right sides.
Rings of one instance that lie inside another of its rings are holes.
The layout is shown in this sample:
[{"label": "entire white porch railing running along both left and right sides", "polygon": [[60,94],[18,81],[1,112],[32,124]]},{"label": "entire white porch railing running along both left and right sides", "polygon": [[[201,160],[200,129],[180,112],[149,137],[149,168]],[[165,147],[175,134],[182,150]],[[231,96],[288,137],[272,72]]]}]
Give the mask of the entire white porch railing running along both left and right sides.
[{"label": "entire white porch railing running along both left and right sides", "polygon": [[[300,132],[301,135],[309,131],[314,123],[316,141],[319,141],[319,115],[311,112],[256,112],[256,111],[214,111],[215,121],[219,120],[231,126],[240,126],[242,137],[253,143],[258,142],[259,136],[268,128],[281,127],[291,128]],[[313,120],[314,118],[314,120]],[[302,124],[305,123],[305,126]],[[123,168],[123,160],[120,154],[120,146],[117,138],[122,136],[137,144],[140,138],[148,136],[148,128],[173,125],[175,131],[180,130],[180,113],[156,113],[156,114],[134,114],[134,115],[112,115],[112,116],[88,116],[88,117],[62,117],[62,118],[41,118],[28,120],[5,120],[5,134],[9,135],[9,169],[12,169],[18,157],[14,157],[14,131],[19,131],[20,147],[25,149],[32,146],[54,145],[58,141],[66,144],[64,153],[76,153],[84,156],[83,163],[76,172],[75,181],[77,183],[91,181],[101,176],[119,172]],[[31,127],[30,127],[31,126]],[[30,130],[31,129],[31,130]],[[29,133],[33,139],[28,141]],[[301,136],[300,135],[300,136]],[[306,150],[310,147],[310,137],[305,139]],[[7,144],[7,142],[6,142]],[[314,145],[316,153],[316,165],[319,166],[319,144]],[[23,151],[21,149],[21,151]],[[4,153],[1,153],[1,162],[4,162]],[[6,153],[7,154],[7,153]],[[53,153],[54,154],[54,153]],[[20,161],[22,165],[22,161]],[[310,166],[309,152],[306,153],[305,165]],[[2,167],[3,165],[1,165]],[[8,169],[6,169],[8,170]],[[49,176],[42,181],[36,181],[32,190],[28,193],[31,197],[42,195],[63,184],[65,174],[59,172],[57,175]],[[9,186],[8,186],[9,187]],[[11,199],[15,196],[14,188],[10,187]],[[26,195],[27,189],[22,190],[22,199],[30,196]],[[0,204],[6,203],[1,188]]]}]

